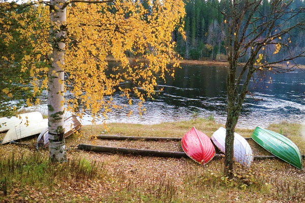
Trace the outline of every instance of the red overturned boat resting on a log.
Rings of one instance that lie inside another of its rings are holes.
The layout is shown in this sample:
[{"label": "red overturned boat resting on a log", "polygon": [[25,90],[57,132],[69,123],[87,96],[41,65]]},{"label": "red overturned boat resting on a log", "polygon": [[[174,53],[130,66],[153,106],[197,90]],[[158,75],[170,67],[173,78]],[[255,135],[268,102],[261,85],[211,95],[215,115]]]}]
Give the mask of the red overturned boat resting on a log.
[{"label": "red overturned boat resting on a log", "polygon": [[215,156],[215,147],[210,138],[195,127],[182,137],[181,144],[185,153],[202,165]]}]

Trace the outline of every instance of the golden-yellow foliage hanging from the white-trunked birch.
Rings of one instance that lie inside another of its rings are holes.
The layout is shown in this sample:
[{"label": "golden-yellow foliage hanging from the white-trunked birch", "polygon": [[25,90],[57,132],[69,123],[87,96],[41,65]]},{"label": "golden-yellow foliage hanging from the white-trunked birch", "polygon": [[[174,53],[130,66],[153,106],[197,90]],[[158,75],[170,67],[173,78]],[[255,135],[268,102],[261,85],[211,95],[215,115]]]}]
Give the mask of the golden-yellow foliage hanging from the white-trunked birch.
[{"label": "golden-yellow foliage hanging from the white-trunked birch", "polygon": [[[67,7],[65,61],[60,66],[66,73],[68,110],[81,106],[80,111],[88,108],[96,114],[104,109],[106,114],[111,107],[117,107],[111,95],[118,88],[128,99],[133,92],[144,101],[154,95],[158,77],[173,75],[167,65],[172,62],[178,67],[179,62],[171,34],[178,27],[184,35],[181,19],[185,5],[181,0],[148,3],[149,10],[138,1],[73,3]],[[50,25],[56,23],[50,22],[49,7],[45,5],[29,7],[22,15],[10,15],[19,23],[20,36],[31,46],[31,51],[24,50],[21,66],[34,78],[34,90],[39,92],[46,88],[53,61]],[[132,63],[128,55],[135,57]],[[109,65],[109,58],[119,63]],[[31,105],[31,100],[26,103]]]}]

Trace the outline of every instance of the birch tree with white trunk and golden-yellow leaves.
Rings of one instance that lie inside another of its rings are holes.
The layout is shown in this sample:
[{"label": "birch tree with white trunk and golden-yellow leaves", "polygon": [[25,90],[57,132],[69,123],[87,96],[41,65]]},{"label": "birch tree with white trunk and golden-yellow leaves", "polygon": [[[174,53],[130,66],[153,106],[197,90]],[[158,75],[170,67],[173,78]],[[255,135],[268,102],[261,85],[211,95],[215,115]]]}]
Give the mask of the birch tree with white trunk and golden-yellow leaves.
[{"label": "birch tree with white trunk and golden-yellow leaves", "polygon": [[[182,1],[51,0],[17,5],[5,3],[8,19],[18,22],[19,32],[31,51],[20,61],[21,71],[31,75],[35,94],[48,91],[49,151],[52,162],[67,160],[64,113],[90,109],[93,117],[102,109],[106,116],[118,107],[111,95],[119,90],[132,103],[155,93],[157,78],[174,74],[179,66],[171,33],[179,27],[183,35]],[[24,12],[24,8],[29,8]],[[10,22],[8,20],[8,26]],[[10,33],[9,43],[16,39]],[[141,56],[130,63],[126,53]],[[107,56],[119,62],[109,67]],[[173,63],[172,68],[167,67]],[[45,66],[38,67],[38,64]],[[129,88],[119,84],[129,82]],[[69,98],[65,99],[65,95]],[[140,105],[141,105],[140,102]],[[39,99],[27,99],[27,105]],[[66,104],[66,105],[64,105]]]}]

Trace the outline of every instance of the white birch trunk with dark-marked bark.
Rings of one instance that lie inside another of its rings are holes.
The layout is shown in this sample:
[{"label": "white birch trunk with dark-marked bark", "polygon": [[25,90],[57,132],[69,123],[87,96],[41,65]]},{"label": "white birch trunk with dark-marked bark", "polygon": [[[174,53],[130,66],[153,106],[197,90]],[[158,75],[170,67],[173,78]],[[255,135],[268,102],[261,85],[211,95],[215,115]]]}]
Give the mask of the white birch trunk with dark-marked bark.
[{"label": "white birch trunk with dark-marked bark", "polygon": [[49,125],[49,151],[51,162],[67,161],[64,137],[64,60],[65,60],[65,0],[51,0],[50,4],[50,43],[53,53],[50,60],[48,84],[48,125]]}]

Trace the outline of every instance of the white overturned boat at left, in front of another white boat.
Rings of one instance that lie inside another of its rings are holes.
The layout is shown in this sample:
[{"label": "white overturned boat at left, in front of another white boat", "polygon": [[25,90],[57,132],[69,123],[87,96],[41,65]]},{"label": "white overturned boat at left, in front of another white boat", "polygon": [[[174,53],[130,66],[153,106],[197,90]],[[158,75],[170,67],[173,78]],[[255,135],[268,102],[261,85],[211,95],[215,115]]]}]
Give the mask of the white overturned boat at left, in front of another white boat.
[{"label": "white overturned boat at left, in front of another white boat", "polygon": [[41,133],[46,127],[48,127],[48,120],[43,119],[42,121],[31,121],[26,123],[18,123],[13,128],[10,128],[2,140],[2,144],[36,135]]}]

